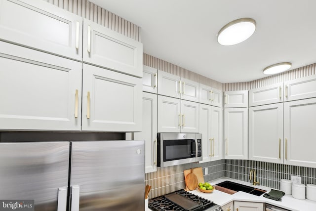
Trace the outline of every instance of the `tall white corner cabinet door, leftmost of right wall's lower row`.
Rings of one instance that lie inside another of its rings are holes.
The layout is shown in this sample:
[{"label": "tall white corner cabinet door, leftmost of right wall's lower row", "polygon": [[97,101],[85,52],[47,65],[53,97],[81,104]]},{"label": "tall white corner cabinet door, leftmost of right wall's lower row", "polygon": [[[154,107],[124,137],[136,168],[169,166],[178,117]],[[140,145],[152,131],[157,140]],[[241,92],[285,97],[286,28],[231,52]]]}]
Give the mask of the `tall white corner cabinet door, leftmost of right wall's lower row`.
[{"label": "tall white corner cabinet door, leftmost of right wall's lower row", "polygon": [[248,108],[224,111],[225,159],[248,158]]}]

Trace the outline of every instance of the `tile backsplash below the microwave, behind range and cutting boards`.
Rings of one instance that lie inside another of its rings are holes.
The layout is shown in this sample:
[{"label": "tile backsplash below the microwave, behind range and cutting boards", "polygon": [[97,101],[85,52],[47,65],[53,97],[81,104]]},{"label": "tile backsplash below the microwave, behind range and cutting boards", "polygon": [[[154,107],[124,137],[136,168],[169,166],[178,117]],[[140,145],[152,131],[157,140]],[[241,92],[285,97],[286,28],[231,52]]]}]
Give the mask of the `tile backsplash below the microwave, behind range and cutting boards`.
[{"label": "tile backsplash below the microwave, behind range and cutting boards", "polygon": [[155,198],[179,189],[185,189],[183,171],[201,167],[203,175],[207,168],[207,173],[204,175],[205,181],[210,181],[224,176],[224,160],[211,161],[206,163],[189,163],[171,167],[158,168],[157,171],[146,173],[145,184],[152,186],[149,198]]}]

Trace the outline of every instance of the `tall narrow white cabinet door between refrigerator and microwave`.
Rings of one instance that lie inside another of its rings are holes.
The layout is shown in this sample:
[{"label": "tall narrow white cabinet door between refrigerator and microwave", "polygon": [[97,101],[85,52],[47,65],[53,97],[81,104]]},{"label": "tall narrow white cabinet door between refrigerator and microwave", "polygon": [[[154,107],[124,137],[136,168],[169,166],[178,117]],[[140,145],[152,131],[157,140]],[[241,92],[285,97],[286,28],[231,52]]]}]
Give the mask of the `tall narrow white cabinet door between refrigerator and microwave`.
[{"label": "tall narrow white cabinet door between refrigerator and microwave", "polygon": [[145,173],[157,171],[157,94],[143,92],[143,129],[134,140],[145,140]]}]

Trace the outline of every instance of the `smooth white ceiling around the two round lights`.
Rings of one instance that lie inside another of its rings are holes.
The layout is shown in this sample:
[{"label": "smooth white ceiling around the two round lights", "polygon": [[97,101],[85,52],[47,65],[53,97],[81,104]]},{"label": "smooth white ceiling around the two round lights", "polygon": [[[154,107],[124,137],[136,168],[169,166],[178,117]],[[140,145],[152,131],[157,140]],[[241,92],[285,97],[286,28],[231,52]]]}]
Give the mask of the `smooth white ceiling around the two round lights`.
[{"label": "smooth white ceiling around the two round lights", "polygon": [[[316,63],[316,0],[90,1],[140,26],[145,53],[221,83],[264,78],[279,62]],[[220,45],[218,31],[243,17],[255,19],[255,33]]]}]

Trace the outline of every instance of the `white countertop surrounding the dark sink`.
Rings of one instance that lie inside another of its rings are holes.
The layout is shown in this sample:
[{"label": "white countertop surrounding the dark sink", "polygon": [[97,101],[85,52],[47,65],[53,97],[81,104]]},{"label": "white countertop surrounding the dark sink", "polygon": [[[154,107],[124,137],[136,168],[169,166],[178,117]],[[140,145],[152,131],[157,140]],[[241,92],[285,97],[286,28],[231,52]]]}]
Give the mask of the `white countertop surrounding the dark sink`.
[{"label": "white countertop surrounding the dark sink", "polygon": [[[209,181],[209,183],[211,185],[215,185],[215,184],[218,184],[218,183],[226,181],[226,180],[233,181],[233,182],[236,182],[239,184],[244,184],[247,186],[256,187],[256,188],[259,188],[262,190],[267,190],[268,192],[271,190],[271,188],[269,188],[269,187],[265,187],[265,186],[261,186],[261,185],[253,186],[250,182],[243,182],[243,181],[239,181],[239,180],[235,180],[235,179],[231,179],[231,178],[225,178],[225,177]],[[226,205],[227,203],[232,202],[232,201],[244,201],[244,202],[268,203],[270,205],[274,205],[274,206],[288,209],[291,211],[316,211],[316,202],[315,201],[311,201],[308,199],[305,199],[305,200],[295,199],[292,197],[292,195],[284,195],[282,197],[282,201],[278,202],[278,201],[275,201],[272,199],[267,199],[267,198],[263,197],[263,195],[255,196],[255,195],[245,193],[242,191],[238,191],[237,193],[232,194],[232,195],[230,195],[228,193],[224,193],[224,192],[216,190],[216,189],[212,193],[202,193],[199,190],[193,190],[190,192],[194,193],[198,196],[201,196],[205,199],[209,199],[220,206]],[[151,211],[151,210],[149,208],[147,208],[147,209],[145,209],[145,211]]]}]

